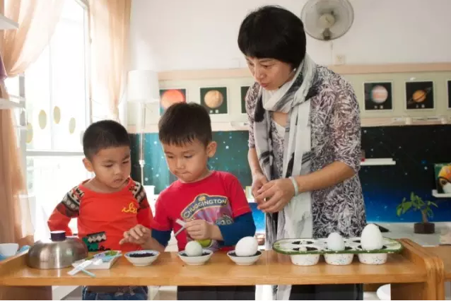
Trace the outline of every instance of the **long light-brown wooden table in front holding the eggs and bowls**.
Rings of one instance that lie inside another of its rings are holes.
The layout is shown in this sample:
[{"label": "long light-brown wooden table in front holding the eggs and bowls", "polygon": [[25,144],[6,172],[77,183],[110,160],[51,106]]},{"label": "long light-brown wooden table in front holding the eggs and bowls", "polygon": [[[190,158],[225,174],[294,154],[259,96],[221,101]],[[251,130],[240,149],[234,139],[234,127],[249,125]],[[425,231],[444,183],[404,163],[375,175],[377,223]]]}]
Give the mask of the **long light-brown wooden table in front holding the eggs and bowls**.
[{"label": "long light-brown wooden table in front holding the eggs and bowls", "polygon": [[[331,266],[294,266],[288,256],[263,252],[253,266],[237,266],[226,254],[213,254],[204,266],[187,266],[176,253],[163,253],[151,266],[134,267],[124,258],[110,270],[69,276],[69,268],[37,270],[25,266],[25,256],[0,263],[0,285],[274,285],[393,283],[392,300],[443,300],[437,293],[437,258],[410,240],[402,240],[402,254],[391,254],[387,264],[358,263]],[[443,292],[442,292],[443,293]]]}]

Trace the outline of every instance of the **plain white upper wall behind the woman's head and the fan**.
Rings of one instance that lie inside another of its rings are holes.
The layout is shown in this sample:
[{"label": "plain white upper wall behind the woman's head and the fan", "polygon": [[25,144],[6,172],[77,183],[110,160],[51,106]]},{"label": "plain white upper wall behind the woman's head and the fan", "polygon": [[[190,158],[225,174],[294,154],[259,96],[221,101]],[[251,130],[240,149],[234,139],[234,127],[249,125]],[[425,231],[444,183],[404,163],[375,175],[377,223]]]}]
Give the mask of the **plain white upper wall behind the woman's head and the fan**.
[{"label": "plain white upper wall behind the woman's head and the fan", "polygon": [[[132,0],[131,69],[169,71],[244,67],[240,22],[254,8],[279,4],[300,15],[306,0]],[[339,40],[310,37],[320,64],[451,61],[451,0],[351,0],[353,26]]]}]

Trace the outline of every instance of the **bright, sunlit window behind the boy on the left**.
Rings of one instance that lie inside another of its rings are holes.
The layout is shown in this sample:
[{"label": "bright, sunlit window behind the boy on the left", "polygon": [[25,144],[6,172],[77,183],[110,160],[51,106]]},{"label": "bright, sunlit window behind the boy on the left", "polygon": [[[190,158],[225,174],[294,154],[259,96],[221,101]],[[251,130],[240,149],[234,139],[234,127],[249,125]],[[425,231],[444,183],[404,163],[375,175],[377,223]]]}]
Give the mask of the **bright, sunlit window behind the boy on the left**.
[{"label": "bright, sunlit window behind the boy on the left", "polygon": [[47,237],[47,218],[64,194],[90,177],[81,162],[81,137],[90,122],[88,13],[83,1],[61,1],[63,11],[49,45],[22,83],[19,78],[6,81],[11,95],[24,88],[27,129],[20,131],[20,140],[26,145],[28,193],[35,200],[30,207],[36,239]]}]

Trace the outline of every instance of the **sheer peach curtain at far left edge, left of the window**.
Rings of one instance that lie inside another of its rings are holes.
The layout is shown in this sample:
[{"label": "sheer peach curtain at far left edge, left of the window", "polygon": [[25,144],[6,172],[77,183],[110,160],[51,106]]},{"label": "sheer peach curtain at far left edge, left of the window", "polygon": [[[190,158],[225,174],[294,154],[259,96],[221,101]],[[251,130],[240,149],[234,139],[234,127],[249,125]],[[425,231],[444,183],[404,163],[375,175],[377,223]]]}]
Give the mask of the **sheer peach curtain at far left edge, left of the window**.
[{"label": "sheer peach curtain at far left edge, left of the window", "polygon": [[[59,0],[0,0],[0,12],[19,24],[18,30],[4,30],[0,53],[4,75],[23,73],[39,57],[49,43],[61,14]],[[0,71],[1,73],[1,71]],[[0,82],[1,98],[8,99],[4,81]],[[26,194],[21,151],[12,110],[0,110],[0,242],[33,242],[33,227],[28,206],[22,207],[20,194]],[[22,223],[25,223],[23,225]]]}]

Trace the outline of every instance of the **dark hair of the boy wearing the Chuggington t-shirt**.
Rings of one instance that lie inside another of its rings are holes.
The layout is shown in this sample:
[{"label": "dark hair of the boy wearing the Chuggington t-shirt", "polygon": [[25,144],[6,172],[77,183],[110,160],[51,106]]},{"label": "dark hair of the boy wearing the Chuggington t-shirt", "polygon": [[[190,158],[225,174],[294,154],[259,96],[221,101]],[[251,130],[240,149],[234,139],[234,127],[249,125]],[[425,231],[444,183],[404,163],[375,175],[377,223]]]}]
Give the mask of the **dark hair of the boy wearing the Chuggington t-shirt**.
[{"label": "dark hair of the boy wearing the Chuggington t-shirt", "polygon": [[207,146],[213,140],[209,112],[192,102],[171,105],[158,122],[158,138],[161,143],[176,146],[197,139]]}]

